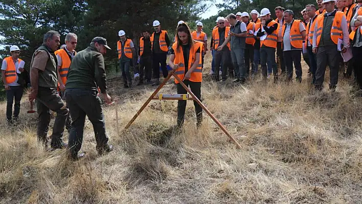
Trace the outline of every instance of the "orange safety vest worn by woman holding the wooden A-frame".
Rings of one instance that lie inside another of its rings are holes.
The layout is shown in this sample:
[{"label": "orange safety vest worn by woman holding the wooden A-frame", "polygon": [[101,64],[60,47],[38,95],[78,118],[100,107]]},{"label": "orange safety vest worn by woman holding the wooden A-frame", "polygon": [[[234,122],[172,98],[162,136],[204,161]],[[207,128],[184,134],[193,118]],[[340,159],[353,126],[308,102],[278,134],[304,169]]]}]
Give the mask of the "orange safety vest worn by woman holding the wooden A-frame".
[{"label": "orange safety vest worn by woman holding the wooden A-frame", "polygon": [[[188,70],[190,70],[192,64],[195,62],[195,55],[196,55],[196,51],[197,49],[200,48],[201,51],[201,46],[202,44],[198,41],[194,41],[194,46],[190,49],[190,56],[189,56],[189,64],[188,64]],[[177,51],[177,42],[172,44],[172,49],[175,52],[175,59],[173,60],[174,64],[179,64],[178,69],[176,70],[175,74],[181,79],[183,80],[185,77],[185,61],[184,61],[184,53],[182,48],[179,48]],[[196,69],[191,73],[191,77],[189,79],[190,81],[193,82],[201,82],[202,81],[202,64],[201,64],[201,53],[200,53],[200,57],[199,57],[199,63],[198,66],[196,67]],[[176,79],[175,79],[175,83],[179,83]]]}]

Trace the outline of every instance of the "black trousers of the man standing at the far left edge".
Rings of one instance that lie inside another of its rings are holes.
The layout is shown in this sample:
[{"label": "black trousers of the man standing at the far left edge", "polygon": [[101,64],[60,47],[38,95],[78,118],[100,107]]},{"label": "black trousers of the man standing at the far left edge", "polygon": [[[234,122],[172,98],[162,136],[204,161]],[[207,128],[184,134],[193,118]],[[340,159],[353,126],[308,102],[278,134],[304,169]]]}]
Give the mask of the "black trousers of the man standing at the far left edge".
[{"label": "black trousers of the man standing at the far left edge", "polygon": [[19,117],[20,101],[24,88],[22,86],[10,86],[9,90],[6,90],[6,119],[11,120],[13,116],[13,103],[14,104],[14,118]]}]

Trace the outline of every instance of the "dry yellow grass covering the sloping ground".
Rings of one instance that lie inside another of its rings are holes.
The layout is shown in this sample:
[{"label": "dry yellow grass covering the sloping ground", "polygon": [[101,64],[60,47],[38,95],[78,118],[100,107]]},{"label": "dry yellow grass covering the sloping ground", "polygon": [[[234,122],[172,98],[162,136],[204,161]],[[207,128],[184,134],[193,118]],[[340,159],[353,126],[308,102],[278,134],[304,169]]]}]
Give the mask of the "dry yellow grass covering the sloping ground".
[{"label": "dry yellow grass covering the sloping ground", "polygon": [[[207,55],[205,73],[210,63]],[[17,127],[6,125],[1,104],[0,203],[361,202],[362,100],[349,81],[340,80],[336,93],[315,93],[305,64],[302,84],[263,85],[259,78],[235,86],[205,76],[203,102],[242,145],[236,149],[205,112],[194,129],[191,102],[182,131],[172,128],[176,101],[152,101],[123,130],[154,87],[124,90],[119,79],[110,80],[110,94],[121,99],[121,132],[114,107],[104,107],[115,151],[102,157],[89,121],[86,157],[68,162],[64,150],[37,144],[37,116],[26,115],[25,101]],[[176,88],[167,84],[161,93]]]}]

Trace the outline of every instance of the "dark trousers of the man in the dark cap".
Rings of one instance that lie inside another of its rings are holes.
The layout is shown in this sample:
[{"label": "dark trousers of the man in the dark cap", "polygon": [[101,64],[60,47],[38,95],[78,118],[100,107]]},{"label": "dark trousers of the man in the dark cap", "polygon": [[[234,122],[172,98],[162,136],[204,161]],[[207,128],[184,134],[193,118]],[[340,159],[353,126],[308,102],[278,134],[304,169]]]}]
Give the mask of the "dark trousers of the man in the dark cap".
[{"label": "dark trousers of the man in the dark cap", "polygon": [[101,99],[94,90],[71,88],[65,90],[65,100],[72,117],[72,129],[69,135],[70,154],[76,156],[82,147],[85,117],[93,125],[98,152],[107,148],[108,137],[105,131]]}]

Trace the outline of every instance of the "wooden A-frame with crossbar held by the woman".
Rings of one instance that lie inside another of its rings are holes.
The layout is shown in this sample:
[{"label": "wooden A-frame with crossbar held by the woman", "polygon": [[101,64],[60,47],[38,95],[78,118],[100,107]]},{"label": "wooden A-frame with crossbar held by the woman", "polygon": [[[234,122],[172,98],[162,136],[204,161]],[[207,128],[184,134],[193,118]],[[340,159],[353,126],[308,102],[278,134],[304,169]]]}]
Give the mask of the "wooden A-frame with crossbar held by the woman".
[{"label": "wooden A-frame with crossbar held by the woman", "polygon": [[[159,93],[160,89],[166,84],[166,82],[171,78],[171,76],[175,77],[177,81],[187,90],[189,97],[187,94],[177,94],[177,95],[159,95],[156,97],[156,94]],[[241,149],[240,144],[232,137],[232,135],[228,132],[228,130],[212,115],[212,113],[206,108],[205,105],[201,103],[201,101],[191,92],[189,87],[185,85],[185,83],[175,74],[175,70],[172,70],[168,76],[163,80],[163,82],[159,85],[159,87],[154,90],[151,96],[147,99],[147,101],[142,105],[142,107],[137,111],[137,113],[133,116],[133,118],[128,122],[125,129],[129,128],[129,126],[137,119],[137,117],[141,114],[143,109],[151,102],[151,100],[195,100],[203,110],[212,118],[213,121],[221,128],[226,135],[228,135],[229,139],[235,143],[235,145]]]}]

